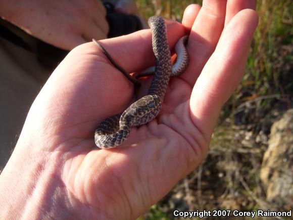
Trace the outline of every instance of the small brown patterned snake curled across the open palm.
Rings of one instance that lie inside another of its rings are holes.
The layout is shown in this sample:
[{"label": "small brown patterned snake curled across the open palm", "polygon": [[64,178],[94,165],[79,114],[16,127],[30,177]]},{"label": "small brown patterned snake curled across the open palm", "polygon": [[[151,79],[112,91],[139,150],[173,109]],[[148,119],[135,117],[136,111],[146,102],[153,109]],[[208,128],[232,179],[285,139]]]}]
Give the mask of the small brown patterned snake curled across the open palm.
[{"label": "small brown patterned snake curled across the open palm", "polygon": [[109,61],[119,69],[134,85],[139,86],[137,78],[154,75],[148,94],[132,103],[124,112],[103,120],[95,129],[94,142],[101,149],[110,149],[122,145],[130,134],[131,127],[140,126],[153,120],[159,114],[167,86],[171,76],[179,76],[189,64],[185,48],[188,36],[181,37],[176,45],[176,63],[171,64],[171,53],[167,39],[167,26],[161,16],[153,16],[148,20],[152,31],[152,47],[155,55],[155,66],[146,69],[136,76],[131,76],[119,66],[101,45],[93,42],[106,55]]}]

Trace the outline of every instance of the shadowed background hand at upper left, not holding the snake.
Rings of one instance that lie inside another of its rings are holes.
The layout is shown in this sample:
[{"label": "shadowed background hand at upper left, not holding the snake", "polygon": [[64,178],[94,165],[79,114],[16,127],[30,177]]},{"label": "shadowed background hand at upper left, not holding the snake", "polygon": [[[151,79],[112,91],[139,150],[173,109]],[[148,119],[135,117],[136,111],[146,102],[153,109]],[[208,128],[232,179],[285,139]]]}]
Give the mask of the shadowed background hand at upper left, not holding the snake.
[{"label": "shadowed background hand at upper left, not holding the snake", "polygon": [[65,50],[92,38],[105,39],[109,32],[106,9],[100,0],[3,1],[0,16]]}]

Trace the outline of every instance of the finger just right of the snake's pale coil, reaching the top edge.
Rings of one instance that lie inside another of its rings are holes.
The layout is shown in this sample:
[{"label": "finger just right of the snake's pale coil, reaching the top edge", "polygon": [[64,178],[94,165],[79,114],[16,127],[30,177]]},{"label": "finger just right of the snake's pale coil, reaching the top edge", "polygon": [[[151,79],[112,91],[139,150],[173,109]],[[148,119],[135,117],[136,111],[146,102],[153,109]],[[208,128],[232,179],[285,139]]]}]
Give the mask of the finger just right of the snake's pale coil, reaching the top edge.
[{"label": "finger just right of the snake's pale coil, reaching the top edge", "polygon": [[189,65],[181,75],[191,86],[215,50],[224,27],[226,2],[227,0],[205,0],[193,23],[187,45],[190,63],[193,65]]}]

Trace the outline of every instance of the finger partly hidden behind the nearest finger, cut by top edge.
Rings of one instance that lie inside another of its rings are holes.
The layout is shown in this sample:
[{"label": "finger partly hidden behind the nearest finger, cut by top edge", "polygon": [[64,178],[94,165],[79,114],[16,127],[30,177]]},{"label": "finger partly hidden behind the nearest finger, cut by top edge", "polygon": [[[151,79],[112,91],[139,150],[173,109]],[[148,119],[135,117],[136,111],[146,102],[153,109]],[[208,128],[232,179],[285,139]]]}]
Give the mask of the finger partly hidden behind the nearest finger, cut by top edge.
[{"label": "finger partly hidden behind the nearest finger, cut by top edge", "polygon": [[243,9],[256,9],[256,0],[228,0],[226,8],[225,26]]}]

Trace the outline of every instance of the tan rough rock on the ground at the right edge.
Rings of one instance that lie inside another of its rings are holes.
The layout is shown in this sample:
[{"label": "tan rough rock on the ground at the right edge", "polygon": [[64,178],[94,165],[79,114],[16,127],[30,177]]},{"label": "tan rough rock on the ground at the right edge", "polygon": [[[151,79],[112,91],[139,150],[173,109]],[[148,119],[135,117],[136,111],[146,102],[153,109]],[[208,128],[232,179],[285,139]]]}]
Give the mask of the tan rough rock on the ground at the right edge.
[{"label": "tan rough rock on the ground at the right edge", "polygon": [[293,207],[293,109],[285,112],[271,127],[261,180],[268,201],[279,207]]}]

